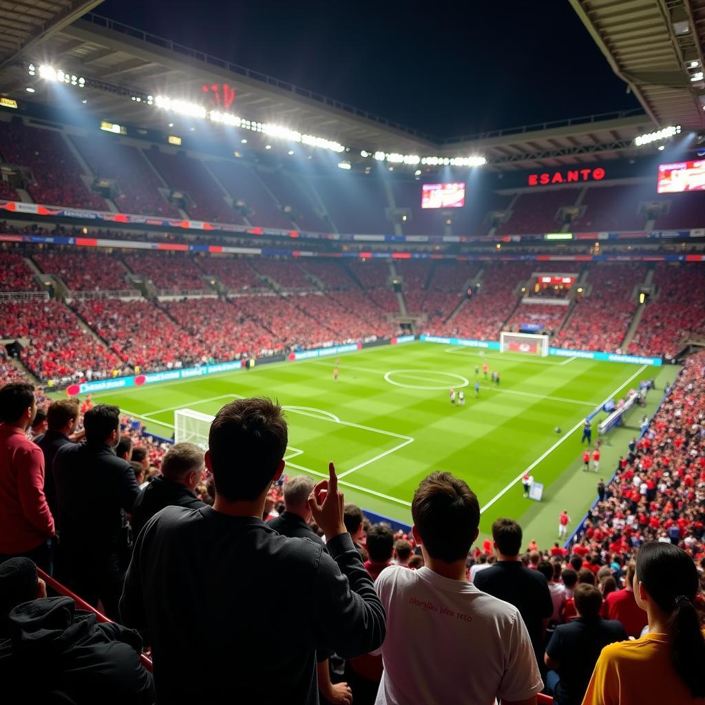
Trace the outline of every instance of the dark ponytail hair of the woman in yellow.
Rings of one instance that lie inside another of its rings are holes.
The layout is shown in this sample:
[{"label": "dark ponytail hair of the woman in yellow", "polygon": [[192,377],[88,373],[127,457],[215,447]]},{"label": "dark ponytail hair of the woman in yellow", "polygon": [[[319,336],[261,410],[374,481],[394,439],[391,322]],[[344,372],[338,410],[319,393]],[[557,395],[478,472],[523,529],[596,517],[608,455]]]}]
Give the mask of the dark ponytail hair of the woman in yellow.
[{"label": "dark ponytail hair of the woman in yellow", "polygon": [[698,571],[692,558],[673,544],[649,541],[637,555],[637,580],[669,615],[670,660],[694,698],[705,697],[705,639],[695,611]]}]

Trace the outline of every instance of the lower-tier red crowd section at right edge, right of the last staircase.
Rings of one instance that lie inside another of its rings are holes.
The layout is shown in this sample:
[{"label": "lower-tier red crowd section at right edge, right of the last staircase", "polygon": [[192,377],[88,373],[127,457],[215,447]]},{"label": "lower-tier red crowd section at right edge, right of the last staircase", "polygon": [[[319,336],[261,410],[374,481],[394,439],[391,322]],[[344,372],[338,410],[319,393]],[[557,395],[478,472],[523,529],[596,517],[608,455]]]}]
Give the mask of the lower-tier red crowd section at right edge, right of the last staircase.
[{"label": "lower-tier red crowd section at right edge, right of the last staircase", "polygon": [[705,271],[697,264],[656,264],[657,298],[646,305],[630,353],[672,357],[687,338],[705,333]]}]

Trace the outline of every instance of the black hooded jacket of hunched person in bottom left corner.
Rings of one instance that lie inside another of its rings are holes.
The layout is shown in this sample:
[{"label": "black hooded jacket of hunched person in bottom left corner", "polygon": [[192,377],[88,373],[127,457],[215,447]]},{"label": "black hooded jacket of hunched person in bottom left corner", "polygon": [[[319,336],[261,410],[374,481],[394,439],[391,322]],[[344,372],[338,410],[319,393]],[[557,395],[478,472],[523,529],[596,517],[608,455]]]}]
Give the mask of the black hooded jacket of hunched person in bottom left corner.
[{"label": "black hooded jacket of hunched person in bottom left corner", "polygon": [[14,608],[8,639],[0,640],[0,682],[19,702],[147,705],[152,674],[140,662],[142,639],[114,623],[97,624],[69,597],[48,597]]}]

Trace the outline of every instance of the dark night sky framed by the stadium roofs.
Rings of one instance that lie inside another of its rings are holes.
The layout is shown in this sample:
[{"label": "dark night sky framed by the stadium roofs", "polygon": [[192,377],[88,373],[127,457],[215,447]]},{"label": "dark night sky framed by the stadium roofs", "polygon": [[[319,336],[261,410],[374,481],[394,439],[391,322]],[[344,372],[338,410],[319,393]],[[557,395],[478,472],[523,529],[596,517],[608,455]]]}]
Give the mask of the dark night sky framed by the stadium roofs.
[{"label": "dark night sky framed by the stadium roofs", "polygon": [[439,137],[639,107],[566,0],[106,0],[96,12]]}]

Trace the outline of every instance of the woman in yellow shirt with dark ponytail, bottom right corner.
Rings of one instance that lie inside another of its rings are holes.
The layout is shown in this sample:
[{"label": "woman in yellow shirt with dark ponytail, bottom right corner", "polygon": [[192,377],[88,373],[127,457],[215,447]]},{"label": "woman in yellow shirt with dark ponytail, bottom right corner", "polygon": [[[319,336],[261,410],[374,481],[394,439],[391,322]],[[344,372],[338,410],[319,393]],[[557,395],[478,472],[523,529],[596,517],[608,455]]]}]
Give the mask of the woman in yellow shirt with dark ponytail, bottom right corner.
[{"label": "woman in yellow shirt with dark ponytail, bottom right corner", "polygon": [[649,632],[602,649],[582,705],[704,705],[705,639],[693,605],[698,591],[697,568],[685,551],[644,544],[634,594]]}]

